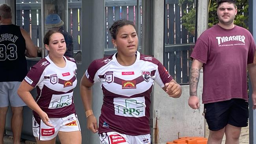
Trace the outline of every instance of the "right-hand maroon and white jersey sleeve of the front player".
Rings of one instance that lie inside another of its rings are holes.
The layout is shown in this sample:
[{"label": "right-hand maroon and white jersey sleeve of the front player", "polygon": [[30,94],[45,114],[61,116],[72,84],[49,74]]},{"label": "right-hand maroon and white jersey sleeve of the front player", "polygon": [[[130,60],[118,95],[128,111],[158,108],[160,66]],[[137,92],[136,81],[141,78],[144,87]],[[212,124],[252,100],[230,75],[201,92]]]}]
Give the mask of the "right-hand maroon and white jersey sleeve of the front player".
[{"label": "right-hand maroon and white jersey sleeve of the front player", "polygon": [[165,87],[165,83],[169,83],[173,77],[169,74],[163,64],[159,62],[157,65],[158,69],[156,70],[155,81],[161,88],[163,88]]}]

